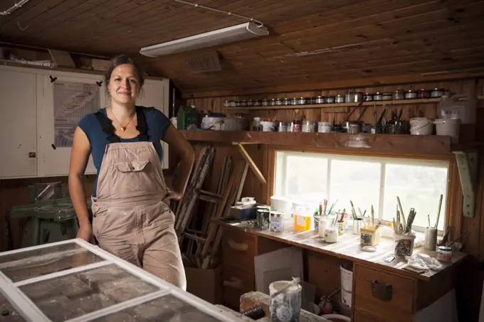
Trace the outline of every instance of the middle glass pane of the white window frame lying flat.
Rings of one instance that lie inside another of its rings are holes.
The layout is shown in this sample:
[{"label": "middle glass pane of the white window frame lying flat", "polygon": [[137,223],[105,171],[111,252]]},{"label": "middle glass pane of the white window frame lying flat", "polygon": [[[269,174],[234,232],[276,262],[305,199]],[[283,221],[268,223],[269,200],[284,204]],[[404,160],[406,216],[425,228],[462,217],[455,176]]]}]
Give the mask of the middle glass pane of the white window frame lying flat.
[{"label": "middle glass pane of the white window frame lying flat", "polygon": [[115,264],[26,284],[19,289],[53,322],[159,291],[157,286]]}]

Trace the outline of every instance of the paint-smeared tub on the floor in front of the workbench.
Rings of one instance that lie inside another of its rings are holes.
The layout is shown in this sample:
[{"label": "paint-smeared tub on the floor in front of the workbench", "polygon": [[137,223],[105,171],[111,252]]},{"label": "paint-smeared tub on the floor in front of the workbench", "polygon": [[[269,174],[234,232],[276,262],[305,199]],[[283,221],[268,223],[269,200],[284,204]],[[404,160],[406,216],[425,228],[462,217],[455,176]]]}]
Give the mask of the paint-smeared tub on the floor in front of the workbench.
[{"label": "paint-smeared tub on the floor in front of the workbench", "polygon": [[[283,289],[290,281],[274,281],[269,285],[269,295]],[[299,321],[301,313],[302,286],[293,285],[282,294],[270,299],[270,321]]]}]

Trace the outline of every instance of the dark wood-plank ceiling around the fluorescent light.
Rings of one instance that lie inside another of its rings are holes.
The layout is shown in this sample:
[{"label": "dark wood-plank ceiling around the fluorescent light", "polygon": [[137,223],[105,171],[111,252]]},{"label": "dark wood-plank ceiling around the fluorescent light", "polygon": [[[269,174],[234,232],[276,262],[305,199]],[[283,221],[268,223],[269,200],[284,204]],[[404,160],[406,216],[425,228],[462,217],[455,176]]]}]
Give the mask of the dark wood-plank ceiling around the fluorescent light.
[{"label": "dark wood-plank ceiling around the fluorescent light", "polygon": [[[14,2],[2,0],[0,11]],[[171,78],[182,92],[484,66],[484,1],[194,2],[256,18],[268,26],[270,36],[219,46],[222,70],[194,73],[186,60],[214,48],[161,58],[142,57],[140,48],[243,19],[172,0],[31,0],[0,16],[0,40],[105,56],[131,53],[149,73]]]}]

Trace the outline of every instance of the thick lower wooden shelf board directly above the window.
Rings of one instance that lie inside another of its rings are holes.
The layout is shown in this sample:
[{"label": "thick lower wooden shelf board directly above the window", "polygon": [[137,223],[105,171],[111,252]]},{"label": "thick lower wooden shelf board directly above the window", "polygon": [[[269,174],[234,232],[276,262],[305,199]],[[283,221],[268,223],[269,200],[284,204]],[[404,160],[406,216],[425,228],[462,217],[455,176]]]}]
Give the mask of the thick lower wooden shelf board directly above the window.
[{"label": "thick lower wooden shelf board directly above the window", "polygon": [[[417,136],[399,134],[347,133],[291,133],[291,132],[229,132],[183,130],[189,141],[219,142],[226,144],[275,144],[285,146],[312,146],[327,149],[372,149],[411,154],[451,154],[450,136]],[[462,149],[462,147],[461,147]]]}]

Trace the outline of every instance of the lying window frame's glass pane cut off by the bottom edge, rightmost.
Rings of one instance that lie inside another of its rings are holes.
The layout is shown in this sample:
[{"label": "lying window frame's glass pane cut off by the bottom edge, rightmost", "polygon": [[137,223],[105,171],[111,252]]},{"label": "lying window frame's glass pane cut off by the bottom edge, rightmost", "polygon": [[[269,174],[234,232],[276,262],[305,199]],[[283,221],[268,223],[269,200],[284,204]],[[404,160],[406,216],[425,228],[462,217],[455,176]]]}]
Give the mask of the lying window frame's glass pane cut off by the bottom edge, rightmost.
[{"label": "lying window frame's glass pane cut off by the bottom edge, rightmost", "polygon": [[93,322],[212,322],[219,319],[200,311],[172,294],[133,308],[96,318]]}]

